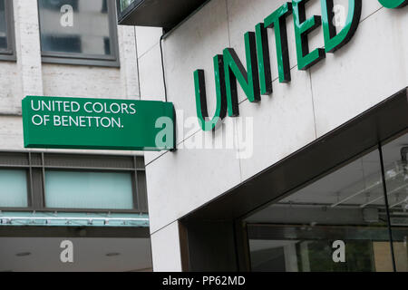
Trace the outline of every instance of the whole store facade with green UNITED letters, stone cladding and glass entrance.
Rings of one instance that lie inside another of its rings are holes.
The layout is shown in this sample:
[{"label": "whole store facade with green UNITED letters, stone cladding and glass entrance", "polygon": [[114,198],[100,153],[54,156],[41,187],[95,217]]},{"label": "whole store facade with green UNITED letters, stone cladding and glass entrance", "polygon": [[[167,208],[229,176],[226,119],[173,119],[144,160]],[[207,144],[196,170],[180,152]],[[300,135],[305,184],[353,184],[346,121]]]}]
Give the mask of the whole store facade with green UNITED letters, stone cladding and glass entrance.
[{"label": "whole store facade with green UNITED letters, stone cladding and glass entrance", "polygon": [[407,271],[405,4],[211,0],[145,28],[141,97],[178,116],[179,150],[145,154],[154,270]]}]

